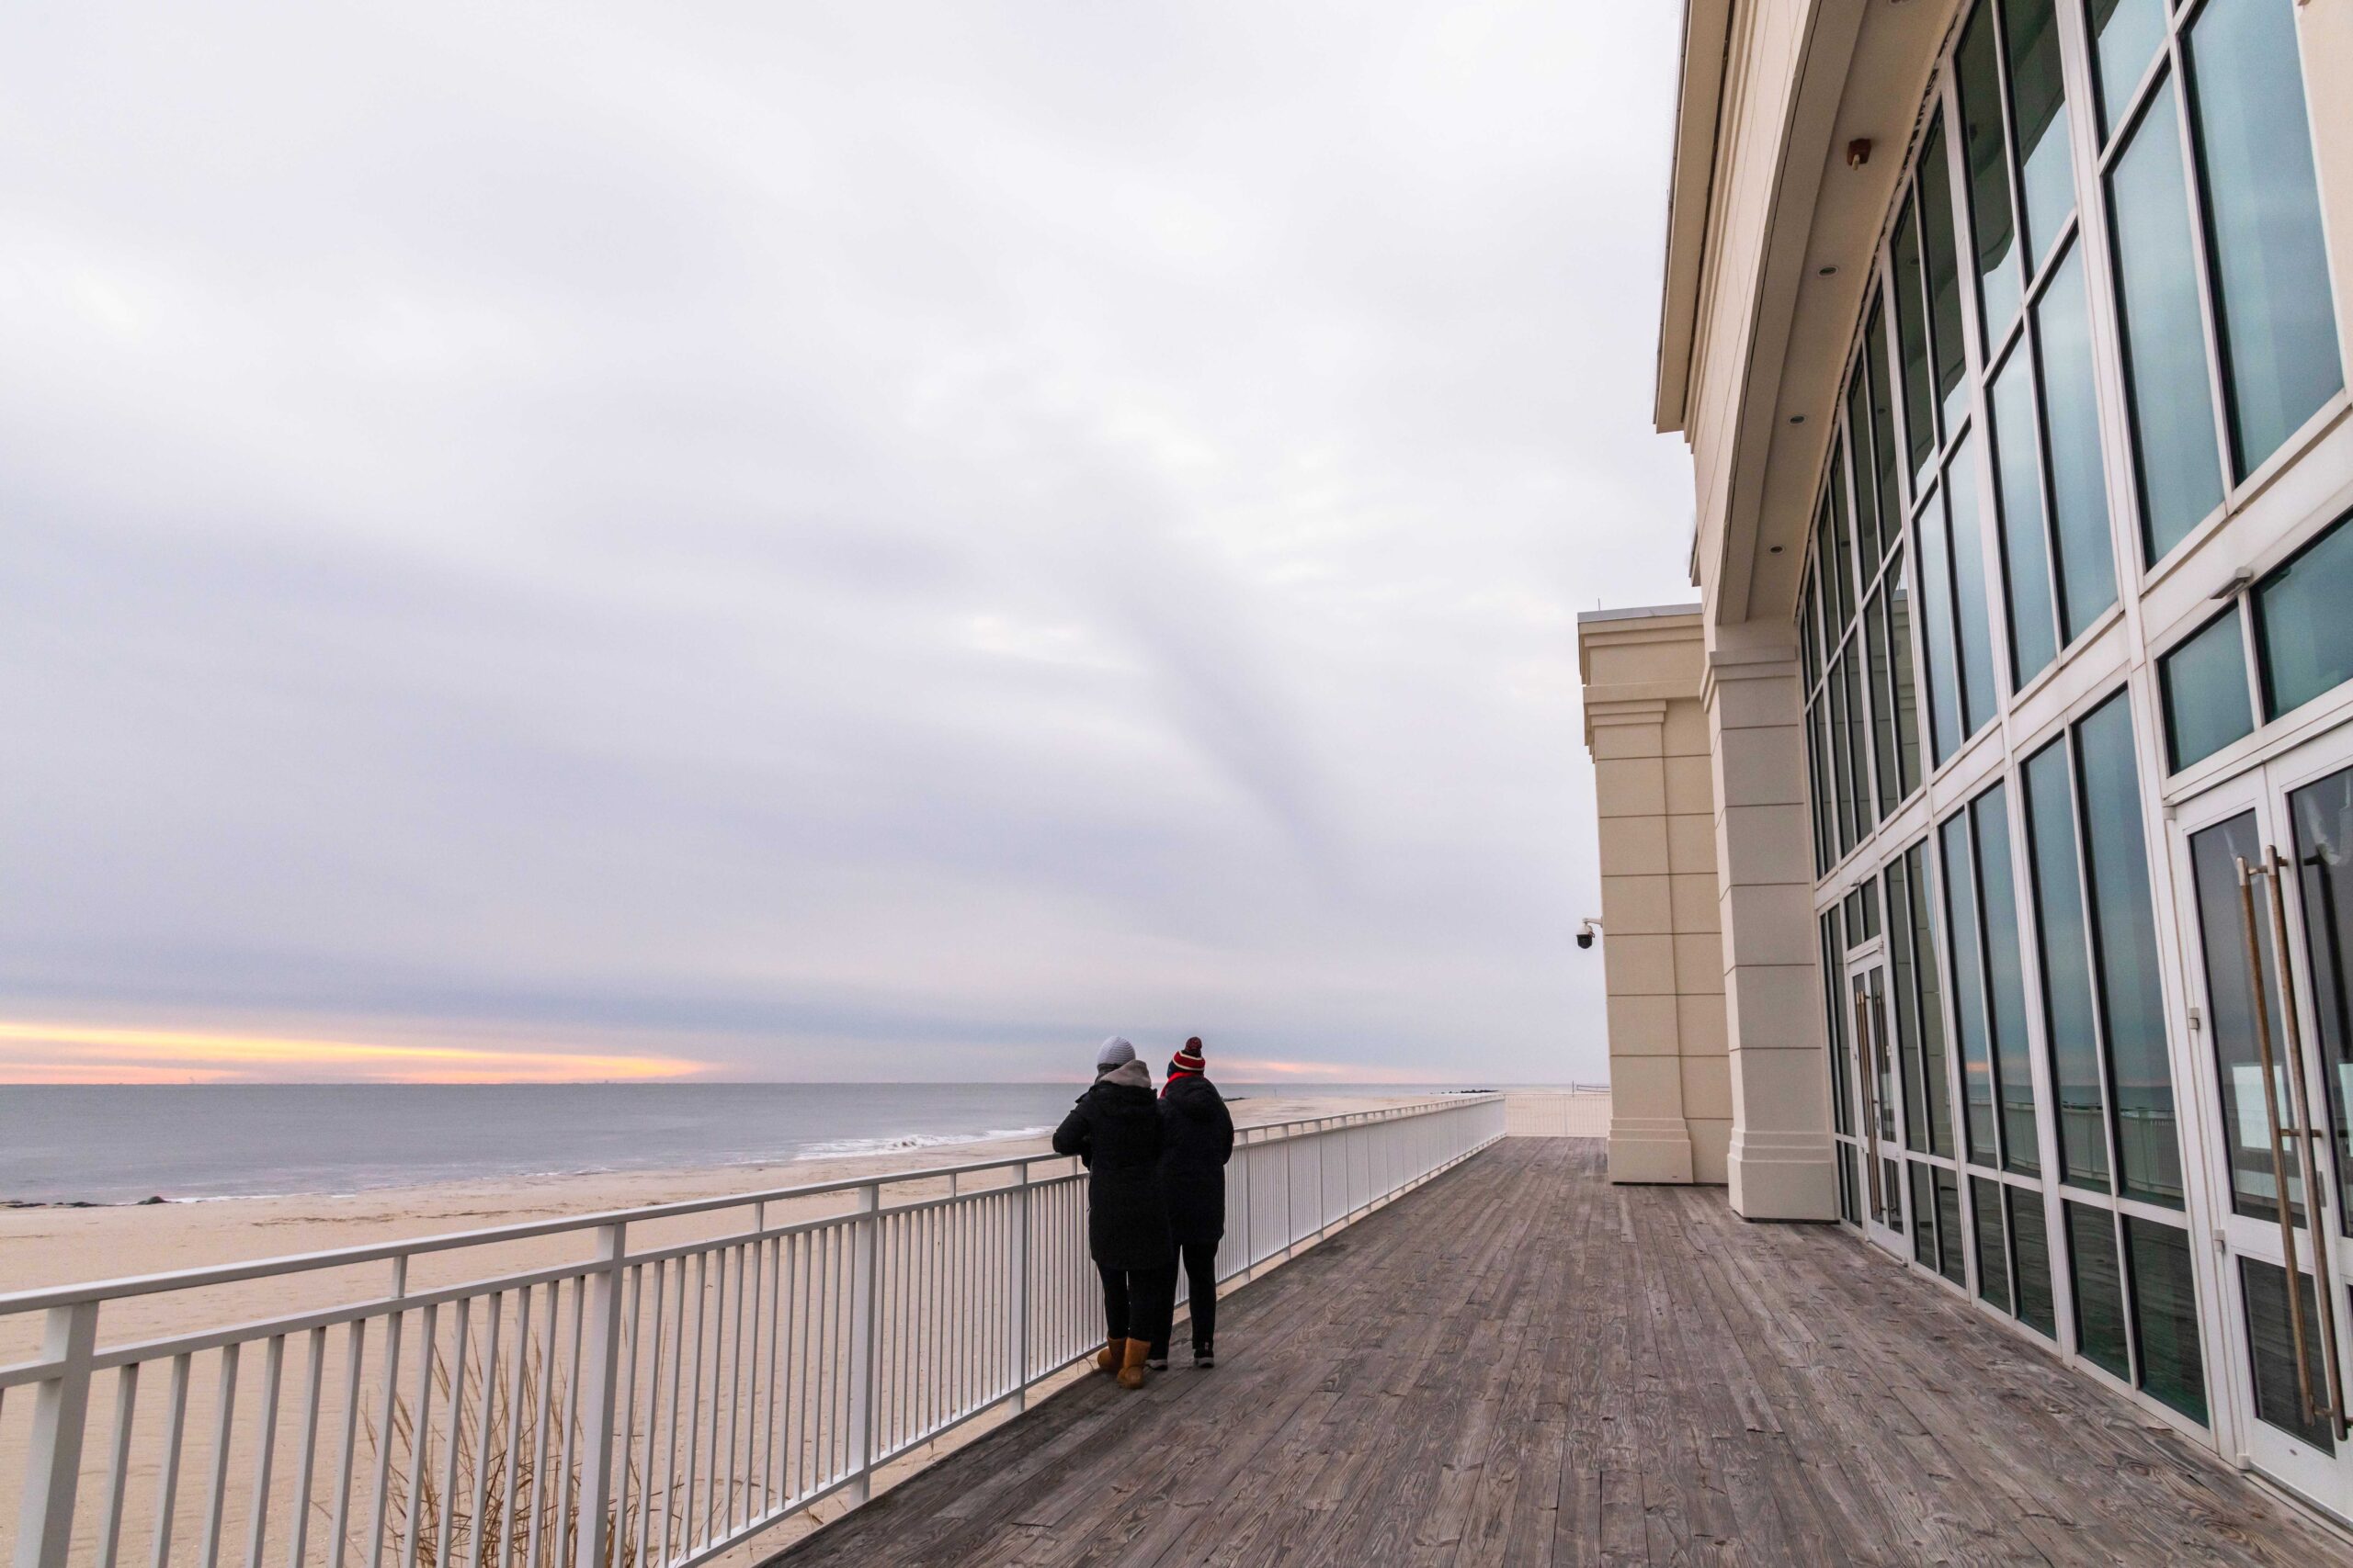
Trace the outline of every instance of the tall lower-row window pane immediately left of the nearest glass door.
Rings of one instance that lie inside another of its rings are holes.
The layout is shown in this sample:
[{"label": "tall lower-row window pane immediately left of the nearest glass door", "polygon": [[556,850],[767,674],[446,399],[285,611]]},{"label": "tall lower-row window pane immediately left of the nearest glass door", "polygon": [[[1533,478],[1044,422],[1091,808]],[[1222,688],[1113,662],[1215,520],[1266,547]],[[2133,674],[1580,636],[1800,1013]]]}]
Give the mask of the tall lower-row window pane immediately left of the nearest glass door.
[{"label": "tall lower-row window pane immediately left of the nearest glass door", "polygon": [[2115,1161],[2125,1197],[2181,1208],[2174,1067],[2165,1044],[2158,931],[2148,889],[2141,778],[2125,693],[2075,726],[2082,769],[2082,882],[2092,889],[2092,952],[2108,1023]]}]

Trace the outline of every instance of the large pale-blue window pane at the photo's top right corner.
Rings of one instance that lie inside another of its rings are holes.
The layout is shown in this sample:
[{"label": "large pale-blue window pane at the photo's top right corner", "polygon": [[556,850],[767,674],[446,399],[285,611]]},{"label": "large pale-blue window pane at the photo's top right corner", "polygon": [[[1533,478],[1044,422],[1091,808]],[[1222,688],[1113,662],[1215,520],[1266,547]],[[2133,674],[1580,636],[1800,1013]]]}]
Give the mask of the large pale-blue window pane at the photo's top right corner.
[{"label": "large pale-blue window pane at the photo's top right corner", "polygon": [[2292,0],[2209,0],[2188,35],[2231,444],[2245,477],[2346,378]]}]

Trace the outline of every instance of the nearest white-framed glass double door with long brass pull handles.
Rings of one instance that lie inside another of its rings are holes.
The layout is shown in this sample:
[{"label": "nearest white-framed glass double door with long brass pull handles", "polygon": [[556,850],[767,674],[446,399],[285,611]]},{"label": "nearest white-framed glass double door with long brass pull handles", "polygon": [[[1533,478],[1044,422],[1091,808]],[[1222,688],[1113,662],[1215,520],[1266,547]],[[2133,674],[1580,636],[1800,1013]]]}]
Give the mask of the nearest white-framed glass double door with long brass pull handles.
[{"label": "nearest white-framed glass double door with long brass pull handles", "polygon": [[2353,1514],[2353,731],[2177,813],[2240,1448]]}]

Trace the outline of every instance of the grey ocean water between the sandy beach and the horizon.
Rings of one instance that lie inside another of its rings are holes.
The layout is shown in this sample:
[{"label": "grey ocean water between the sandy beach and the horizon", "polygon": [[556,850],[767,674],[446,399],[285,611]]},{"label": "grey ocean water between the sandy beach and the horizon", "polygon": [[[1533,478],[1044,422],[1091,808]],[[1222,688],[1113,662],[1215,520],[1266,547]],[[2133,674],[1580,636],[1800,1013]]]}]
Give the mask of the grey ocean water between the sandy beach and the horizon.
[{"label": "grey ocean water between the sandy beach and the horizon", "polygon": [[[0,1201],[360,1192],[485,1175],[948,1150],[1047,1133],[1078,1088],[1075,1081],[0,1086]],[[1228,1086],[1228,1093],[1247,1091]],[[1318,1084],[1313,1093],[1348,1091]]]}]

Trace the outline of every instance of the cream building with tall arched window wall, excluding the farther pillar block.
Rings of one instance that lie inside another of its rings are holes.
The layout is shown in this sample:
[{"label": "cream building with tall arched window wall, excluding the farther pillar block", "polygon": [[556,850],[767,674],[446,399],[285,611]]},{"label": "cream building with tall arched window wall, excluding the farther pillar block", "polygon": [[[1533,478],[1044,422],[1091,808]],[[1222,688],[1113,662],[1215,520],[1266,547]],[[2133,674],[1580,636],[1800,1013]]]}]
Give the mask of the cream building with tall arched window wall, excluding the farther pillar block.
[{"label": "cream building with tall arched window wall, excluding the farther pillar block", "polygon": [[2353,0],[1689,0],[1732,1201],[2339,1519],[2348,362]]}]

